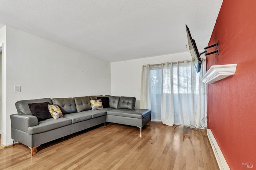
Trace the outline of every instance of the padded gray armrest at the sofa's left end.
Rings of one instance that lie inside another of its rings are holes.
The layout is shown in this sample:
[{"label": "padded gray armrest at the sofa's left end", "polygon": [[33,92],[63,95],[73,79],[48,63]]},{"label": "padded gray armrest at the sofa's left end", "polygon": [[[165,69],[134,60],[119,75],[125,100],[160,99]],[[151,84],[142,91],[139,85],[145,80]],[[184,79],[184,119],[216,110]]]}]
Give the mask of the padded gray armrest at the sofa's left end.
[{"label": "padded gray armrest at the sofa's left end", "polygon": [[13,114],[11,117],[11,127],[23,132],[28,132],[28,127],[38,125],[38,119],[32,115]]}]

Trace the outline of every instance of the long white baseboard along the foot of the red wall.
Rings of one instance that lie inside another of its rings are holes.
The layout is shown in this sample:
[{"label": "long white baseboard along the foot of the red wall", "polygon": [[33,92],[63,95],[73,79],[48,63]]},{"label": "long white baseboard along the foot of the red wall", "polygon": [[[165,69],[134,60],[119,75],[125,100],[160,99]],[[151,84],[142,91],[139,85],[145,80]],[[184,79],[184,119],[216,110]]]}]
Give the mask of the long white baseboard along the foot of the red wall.
[{"label": "long white baseboard along the foot of the red wall", "polygon": [[212,146],[212,150],[214,152],[214,155],[215,155],[215,158],[217,160],[220,170],[230,170],[228,163],[227,163],[226,159],[224,158],[224,155],[222,154],[216,139],[214,138],[212,130],[207,129],[207,136],[209,138],[210,144]]}]

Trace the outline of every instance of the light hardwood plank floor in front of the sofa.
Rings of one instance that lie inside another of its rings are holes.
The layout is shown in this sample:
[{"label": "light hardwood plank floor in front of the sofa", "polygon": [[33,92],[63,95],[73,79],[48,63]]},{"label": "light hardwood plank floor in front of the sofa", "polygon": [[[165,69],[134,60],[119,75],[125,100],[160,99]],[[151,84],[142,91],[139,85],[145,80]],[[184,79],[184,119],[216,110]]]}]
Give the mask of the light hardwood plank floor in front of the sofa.
[{"label": "light hardwood plank floor in front of the sofa", "polygon": [[109,123],[43,144],[33,157],[23,144],[0,148],[0,169],[218,170],[206,130],[151,122]]}]

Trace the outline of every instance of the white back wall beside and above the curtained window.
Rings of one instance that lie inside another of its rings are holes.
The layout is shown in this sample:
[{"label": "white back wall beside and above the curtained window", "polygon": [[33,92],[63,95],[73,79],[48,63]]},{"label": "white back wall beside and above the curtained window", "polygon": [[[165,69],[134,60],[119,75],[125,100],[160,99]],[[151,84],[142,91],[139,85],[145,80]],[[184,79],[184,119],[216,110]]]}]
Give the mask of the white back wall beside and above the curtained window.
[{"label": "white back wall beside and above the curtained window", "polygon": [[141,70],[144,64],[158,64],[192,59],[190,52],[133,59],[111,63],[111,95],[136,97],[140,108]]}]

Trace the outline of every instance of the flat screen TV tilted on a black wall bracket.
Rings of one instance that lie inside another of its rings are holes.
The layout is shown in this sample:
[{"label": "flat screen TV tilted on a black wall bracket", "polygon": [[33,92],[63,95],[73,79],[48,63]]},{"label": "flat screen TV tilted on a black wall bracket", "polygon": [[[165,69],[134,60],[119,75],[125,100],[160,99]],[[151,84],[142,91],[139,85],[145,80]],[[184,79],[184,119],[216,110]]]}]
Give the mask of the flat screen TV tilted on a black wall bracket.
[{"label": "flat screen TV tilted on a black wall bracket", "polygon": [[196,72],[199,73],[201,70],[202,59],[201,59],[198,49],[196,47],[196,42],[195,42],[195,40],[192,39],[187,25],[186,25],[186,30],[187,30],[187,36],[188,36],[189,50],[190,50],[194,65],[196,67]]}]

